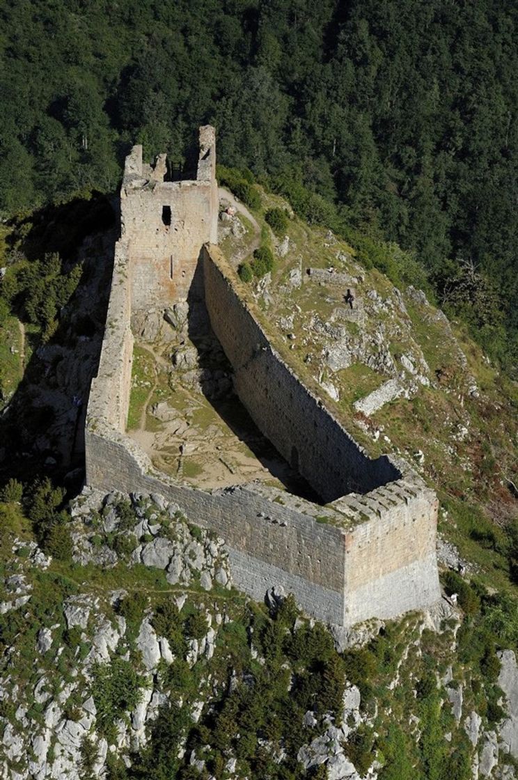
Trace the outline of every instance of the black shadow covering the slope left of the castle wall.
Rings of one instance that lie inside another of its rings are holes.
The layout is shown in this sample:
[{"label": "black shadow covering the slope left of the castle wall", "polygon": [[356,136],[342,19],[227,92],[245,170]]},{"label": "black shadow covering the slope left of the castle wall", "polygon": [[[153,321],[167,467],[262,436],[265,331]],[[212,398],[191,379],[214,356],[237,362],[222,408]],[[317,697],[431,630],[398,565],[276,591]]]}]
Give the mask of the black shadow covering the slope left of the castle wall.
[{"label": "black shadow covering the slope left of the castle wall", "polygon": [[[52,338],[43,343],[34,328],[25,333],[23,378],[0,412],[0,484],[50,477],[70,496],[83,486],[84,423],[105,332],[117,214],[116,198],[94,193],[16,225],[30,262],[58,252],[64,271],[80,263],[83,272]],[[14,313],[23,321],[16,299]]]}]

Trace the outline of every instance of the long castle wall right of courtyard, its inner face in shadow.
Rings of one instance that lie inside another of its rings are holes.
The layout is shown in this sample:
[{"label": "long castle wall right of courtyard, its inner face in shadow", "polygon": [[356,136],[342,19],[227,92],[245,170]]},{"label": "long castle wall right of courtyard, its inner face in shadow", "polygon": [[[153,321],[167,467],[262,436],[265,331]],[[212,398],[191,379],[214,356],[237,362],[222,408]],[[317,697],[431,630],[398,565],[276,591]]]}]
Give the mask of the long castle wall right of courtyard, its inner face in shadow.
[{"label": "long castle wall right of courtyard, its inner face in shadow", "polygon": [[273,349],[218,247],[204,248],[204,282],[211,325],[232,363],[239,399],[323,501],[399,479],[389,458],[369,458]]}]

